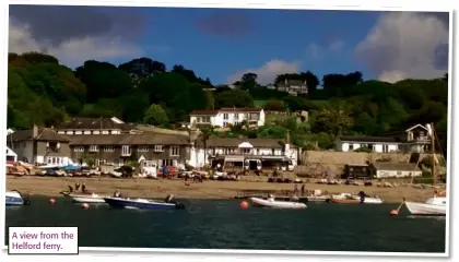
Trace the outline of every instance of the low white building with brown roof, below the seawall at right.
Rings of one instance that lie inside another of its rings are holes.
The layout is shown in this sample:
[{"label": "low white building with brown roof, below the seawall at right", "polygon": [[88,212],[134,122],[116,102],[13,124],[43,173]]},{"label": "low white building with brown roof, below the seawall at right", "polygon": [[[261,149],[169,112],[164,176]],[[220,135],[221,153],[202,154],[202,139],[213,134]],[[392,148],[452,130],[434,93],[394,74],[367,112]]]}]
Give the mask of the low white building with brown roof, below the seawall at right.
[{"label": "low white building with brown roof, below the seawall at right", "polygon": [[420,177],[422,170],[412,163],[376,162],[370,165],[376,178]]}]

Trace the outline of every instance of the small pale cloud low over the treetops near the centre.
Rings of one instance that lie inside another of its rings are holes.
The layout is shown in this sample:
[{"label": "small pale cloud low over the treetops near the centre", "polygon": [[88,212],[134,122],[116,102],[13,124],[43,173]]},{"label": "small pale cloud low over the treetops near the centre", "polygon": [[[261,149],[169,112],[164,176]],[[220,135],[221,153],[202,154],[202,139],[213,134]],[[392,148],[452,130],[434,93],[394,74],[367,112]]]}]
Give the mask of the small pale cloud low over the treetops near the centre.
[{"label": "small pale cloud low over the treetops near the centre", "polygon": [[260,84],[272,83],[279,74],[284,73],[297,73],[298,72],[298,62],[287,62],[282,60],[271,60],[259,68],[256,69],[246,69],[238,71],[231,76],[228,76],[228,84],[233,84],[236,81],[239,81],[245,73],[256,73],[258,75],[257,82]]}]

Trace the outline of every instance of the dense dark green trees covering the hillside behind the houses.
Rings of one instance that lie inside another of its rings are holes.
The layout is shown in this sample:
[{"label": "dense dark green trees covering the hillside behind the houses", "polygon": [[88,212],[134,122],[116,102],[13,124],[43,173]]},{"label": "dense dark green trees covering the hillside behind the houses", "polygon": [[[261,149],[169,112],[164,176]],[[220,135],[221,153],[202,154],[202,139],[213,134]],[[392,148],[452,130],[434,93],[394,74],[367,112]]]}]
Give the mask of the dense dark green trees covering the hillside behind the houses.
[{"label": "dense dark green trees covering the hillside behind the houses", "polygon": [[[243,75],[235,85],[213,86],[184,66],[170,70],[150,58],[116,67],[86,61],[74,71],[43,53],[10,53],[8,126],[27,129],[52,126],[69,116],[113,117],[129,122],[172,127],[188,120],[193,109],[264,107],[269,110],[308,111],[304,118],[271,116],[266,127],[232,127],[224,135],[285,138],[304,147],[329,148],[338,134],[381,135],[392,129],[434,122],[446,150],[447,74],[434,80],[403,80],[395,84],[363,81],[361,72],[327,74],[310,71],[279,75],[273,84],[306,81],[309,94],[290,96],[257,83],[257,74]],[[217,87],[215,91],[208,88]],[[223,135],[223,134],[221,134]]]}]

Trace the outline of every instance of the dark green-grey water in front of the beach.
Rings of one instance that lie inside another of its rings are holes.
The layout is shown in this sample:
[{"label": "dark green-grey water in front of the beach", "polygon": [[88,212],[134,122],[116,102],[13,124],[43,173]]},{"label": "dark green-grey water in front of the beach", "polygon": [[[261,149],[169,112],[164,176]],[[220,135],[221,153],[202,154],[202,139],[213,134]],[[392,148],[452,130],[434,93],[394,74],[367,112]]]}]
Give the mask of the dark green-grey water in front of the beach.
[{"label": "dark green-grey water in front of the beach", "polygon": [[[308,204],[301,211],[183,201],[187,210],[82,210],[69,199],[32,198],[7,207],[9,226],[76,226],[81,247],[444,252],[445,218],[390,217],[393,205]],[[8,231],[7,231],[8,241]]]}]

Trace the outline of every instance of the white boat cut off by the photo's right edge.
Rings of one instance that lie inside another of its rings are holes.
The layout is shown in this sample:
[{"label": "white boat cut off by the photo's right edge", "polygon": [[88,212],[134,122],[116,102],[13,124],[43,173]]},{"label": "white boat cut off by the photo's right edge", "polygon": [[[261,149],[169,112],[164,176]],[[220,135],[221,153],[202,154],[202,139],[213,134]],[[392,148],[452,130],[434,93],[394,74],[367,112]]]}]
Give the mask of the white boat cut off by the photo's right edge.
[{"label": "white boat cut off by the photo's right edge", "polygon": [[405,201],[404,205],[415,216],[446,216],[446,203],[445,196],[434,195],[424,203]]}]

